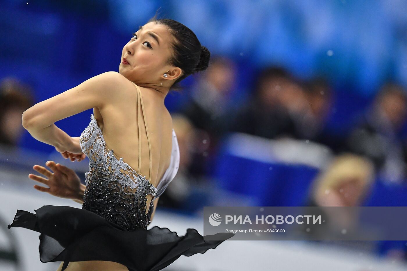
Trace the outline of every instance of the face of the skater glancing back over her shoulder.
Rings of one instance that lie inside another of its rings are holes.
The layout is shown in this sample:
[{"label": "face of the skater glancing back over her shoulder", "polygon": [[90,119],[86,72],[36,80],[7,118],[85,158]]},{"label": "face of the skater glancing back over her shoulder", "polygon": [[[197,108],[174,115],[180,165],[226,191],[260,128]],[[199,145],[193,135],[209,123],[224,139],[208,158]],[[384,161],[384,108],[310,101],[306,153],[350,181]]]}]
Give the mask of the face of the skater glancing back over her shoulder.
[{"label": "face of the skater glancing back over her shoulder", "polygon": [[[136,84],[158,82],[165,72],[174,68],[165,64],[171,55],[171,42],[166,26],[155,22],[145,24],[123,47],[119,73]],[[123,58],[128,63],[123,63]]]}]

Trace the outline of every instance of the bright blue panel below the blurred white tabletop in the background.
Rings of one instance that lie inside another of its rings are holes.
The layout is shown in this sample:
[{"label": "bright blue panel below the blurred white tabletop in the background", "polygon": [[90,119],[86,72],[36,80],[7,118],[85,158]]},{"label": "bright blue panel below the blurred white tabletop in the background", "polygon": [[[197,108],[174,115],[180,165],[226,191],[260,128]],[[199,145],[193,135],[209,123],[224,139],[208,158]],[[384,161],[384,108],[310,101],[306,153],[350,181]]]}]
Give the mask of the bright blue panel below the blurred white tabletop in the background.
[{"label": "bright blue panel below the blurred white tabletop in the background", "polygon": [[318,169],[305,165],[263,162],[234,155],[222,146],[214,177],[230,192],[257,199],[259,206],[303,206]]}]

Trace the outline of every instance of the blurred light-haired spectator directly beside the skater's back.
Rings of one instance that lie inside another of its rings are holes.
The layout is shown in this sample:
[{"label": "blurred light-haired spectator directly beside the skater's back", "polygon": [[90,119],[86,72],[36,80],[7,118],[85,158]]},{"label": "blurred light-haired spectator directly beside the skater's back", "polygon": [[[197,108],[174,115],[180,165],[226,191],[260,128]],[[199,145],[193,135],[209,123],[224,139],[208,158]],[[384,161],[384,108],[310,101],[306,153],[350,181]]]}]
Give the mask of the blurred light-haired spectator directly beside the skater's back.
[{"label": "blurred light-haired spectator directly beside the skater's back", "polygon": [[196,129],[182,114],[172,114],[173,128],[177,135],[179,146],[179,168],[177,175],[161,195],[158,205],[184,211],[194,211],[202,206],[194,193],[199,186],[205,186],[206,181],[201,177],[191,175],[191,162],[196,148]]}]

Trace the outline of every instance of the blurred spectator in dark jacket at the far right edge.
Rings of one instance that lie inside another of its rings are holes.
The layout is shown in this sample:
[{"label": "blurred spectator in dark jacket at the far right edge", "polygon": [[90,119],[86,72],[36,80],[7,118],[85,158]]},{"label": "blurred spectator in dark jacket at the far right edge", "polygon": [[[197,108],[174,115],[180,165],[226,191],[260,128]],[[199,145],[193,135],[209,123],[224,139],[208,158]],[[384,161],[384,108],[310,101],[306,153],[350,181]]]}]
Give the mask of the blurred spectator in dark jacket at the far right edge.
[{"label": "blurred spectator in dark jacket at the far right edge", "polygon": [[370,158],[383,179],[406,177],[407,149],[399,132],[406,120],[407,97],[398,84],[385,84],[372,107],[350,134],[346,147]]}]

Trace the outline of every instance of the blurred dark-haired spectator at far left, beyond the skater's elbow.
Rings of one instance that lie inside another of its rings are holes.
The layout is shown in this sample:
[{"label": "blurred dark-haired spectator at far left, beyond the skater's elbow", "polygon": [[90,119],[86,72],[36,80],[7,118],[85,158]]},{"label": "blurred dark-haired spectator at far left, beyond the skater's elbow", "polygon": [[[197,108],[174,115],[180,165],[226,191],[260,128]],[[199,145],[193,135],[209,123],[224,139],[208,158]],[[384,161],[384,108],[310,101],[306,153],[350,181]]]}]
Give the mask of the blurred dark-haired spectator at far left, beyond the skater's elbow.
[{"label": "blurred dark-haired spectator at far left, beyond the skater's elbow", "polygon": [[17,146],[24,132],[23,112],[33,105],[31,89],[17,79],[0,82],[0,144]]}]

